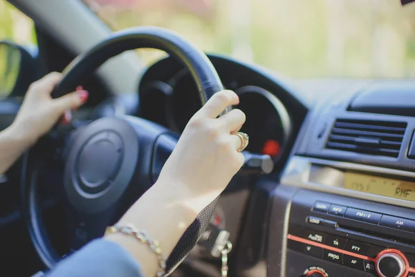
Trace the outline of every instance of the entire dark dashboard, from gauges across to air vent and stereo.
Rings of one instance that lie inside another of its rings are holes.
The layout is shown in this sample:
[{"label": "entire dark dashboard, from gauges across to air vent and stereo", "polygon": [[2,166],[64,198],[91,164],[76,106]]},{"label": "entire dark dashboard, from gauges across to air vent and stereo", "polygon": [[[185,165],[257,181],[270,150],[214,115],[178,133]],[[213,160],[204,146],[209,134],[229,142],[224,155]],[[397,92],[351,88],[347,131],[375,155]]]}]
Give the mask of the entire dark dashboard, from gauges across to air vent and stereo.
[{"label": "entire dark dashboard, from gauges across to air vent and stereo", "polygon": [[[237,208],[229,206],[235,195],[219,204],[221,216],[233,219],[225,228],[238,234],[230,237],[237,272],[265,261],[266,273],[255,276],[415,276],[415,83],[295,87],[255,66],[209,57],[225,88],[239,94],[248,150],[276,165]],[[315,90],[312,105],[296,94],[301,87]],[[139,91],[138,115],[174,132],[201,107],[189,72],[170,57],[148,69]]]}]

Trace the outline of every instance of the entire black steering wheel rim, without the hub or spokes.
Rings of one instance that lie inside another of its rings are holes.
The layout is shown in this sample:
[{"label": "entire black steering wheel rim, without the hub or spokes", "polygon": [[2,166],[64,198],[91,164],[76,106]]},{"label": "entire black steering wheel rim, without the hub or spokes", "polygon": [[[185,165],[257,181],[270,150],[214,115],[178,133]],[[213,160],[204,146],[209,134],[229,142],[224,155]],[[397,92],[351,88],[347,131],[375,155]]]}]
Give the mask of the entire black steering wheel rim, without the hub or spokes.
[{"label": "entire black steering wheel rim, without the hub or spokes", "polygon": [[[183,37],[164,28],[137,27],[114,33],[91,48],[90,51],[76,57],[64,70],[62,81],[53,91],[53,97],[63,96],[73,91],[79,84],[82,75],[95,71],[109,58],[136,48],[157,48],[183,62],[196,82],[203,105],[214,93],[223,89],[219,75],[208,57]],[[228,109],[223,113],[227,111]],[[28,157],[30,155],[25,156],[26,163],[28,163]],[[48,240],[43,226],[37,202],[37,174],[37,168],[31,168],[30,163],[22,170],[22,177],[24,177],[22,178],[22,188],[24,189],[22,206],[24,207],[24,215],[27,217],[29,235],[33,245],[39,258],[46,267],[51,269],[60,260],[60,257]],[[206,207],[185,231],[167,260],[167,272],[176,268],[199,240],[212,217],[218,199],[219,197]]]}]

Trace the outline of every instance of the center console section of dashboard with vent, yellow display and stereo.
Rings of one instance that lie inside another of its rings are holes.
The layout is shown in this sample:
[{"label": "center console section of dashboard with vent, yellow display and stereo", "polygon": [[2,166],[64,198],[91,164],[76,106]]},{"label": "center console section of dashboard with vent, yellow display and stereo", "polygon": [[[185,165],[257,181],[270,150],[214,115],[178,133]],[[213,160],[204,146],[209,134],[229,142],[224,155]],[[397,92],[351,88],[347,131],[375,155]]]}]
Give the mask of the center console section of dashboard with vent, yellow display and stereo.
[{"label": "center console section of dashboard with vent, yellow display and stereo", "polygon": [[415,276],[414,88],[315,103],[272,197],[268,276]]}]

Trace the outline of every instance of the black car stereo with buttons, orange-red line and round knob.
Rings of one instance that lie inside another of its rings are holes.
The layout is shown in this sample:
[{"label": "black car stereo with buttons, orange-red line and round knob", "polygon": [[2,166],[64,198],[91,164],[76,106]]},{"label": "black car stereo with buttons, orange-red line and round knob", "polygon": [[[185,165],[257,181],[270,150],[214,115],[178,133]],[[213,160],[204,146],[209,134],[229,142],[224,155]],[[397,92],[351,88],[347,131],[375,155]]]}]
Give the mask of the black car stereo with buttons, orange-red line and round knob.
[{"label": "black car stereo with buttons, orange-red line and round knob", "polygon": [[286,240],[287,276],[415,276],[409,208],[298,190]]}]

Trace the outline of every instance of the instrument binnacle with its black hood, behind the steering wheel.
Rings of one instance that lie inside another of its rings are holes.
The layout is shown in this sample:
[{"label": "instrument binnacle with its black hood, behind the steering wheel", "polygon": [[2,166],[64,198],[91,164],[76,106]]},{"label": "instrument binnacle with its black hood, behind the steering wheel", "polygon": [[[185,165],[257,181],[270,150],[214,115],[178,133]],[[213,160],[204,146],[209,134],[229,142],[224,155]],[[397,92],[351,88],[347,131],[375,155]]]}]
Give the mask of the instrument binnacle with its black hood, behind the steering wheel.
[{"label": "instrument binnacle with its black hood, behind the steering wheel", "polygon": [[[225,89],[239,95],[240,103],[234,108],[246,114],[241,131],[250,136],[247,151],[268,154],[281,166],[306,115],[306,104],[293,96],[291,83],[274,74],[229,57],[208,57]],[[172,57],[156,62],[147,70],[139,93],[138,115],[178,133],[183,132],[202,105],[192,76]]]}]

